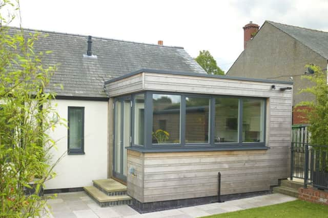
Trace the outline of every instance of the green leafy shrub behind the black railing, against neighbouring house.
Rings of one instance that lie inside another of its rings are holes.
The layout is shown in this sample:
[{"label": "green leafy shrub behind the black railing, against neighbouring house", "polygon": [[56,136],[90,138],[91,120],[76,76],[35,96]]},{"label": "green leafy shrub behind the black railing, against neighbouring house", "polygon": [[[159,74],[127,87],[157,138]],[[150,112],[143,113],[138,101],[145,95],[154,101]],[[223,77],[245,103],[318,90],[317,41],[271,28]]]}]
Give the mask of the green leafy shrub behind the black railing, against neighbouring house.
[{"label": "green leafy shrub behind the black railing, against neighbouring house", "polygon": [[[303,109],[296,109],[306,118],[310,124],[311,143],[322,146],[328,144],[328,85],[327,74],[319,66],[306,65],[306,68],[313,70],[313,74],[305,75],[302,78],[309,80],[314,85],[300,90],[300,93],[311,93],[314,95],[312,101],[300,102],[298,106],[305,106]],[[309,70],[309,71],[312,71]]]}]

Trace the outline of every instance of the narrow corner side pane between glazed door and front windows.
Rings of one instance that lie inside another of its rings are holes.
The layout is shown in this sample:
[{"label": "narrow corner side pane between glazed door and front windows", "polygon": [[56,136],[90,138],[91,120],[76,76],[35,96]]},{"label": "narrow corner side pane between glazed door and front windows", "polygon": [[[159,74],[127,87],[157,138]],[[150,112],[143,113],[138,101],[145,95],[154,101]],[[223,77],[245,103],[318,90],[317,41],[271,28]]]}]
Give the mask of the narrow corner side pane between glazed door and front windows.
[{"label": "narrow corner side pane between glazed door and front windows", "polygon": [[134,144],[145,145],[145,94],[134,95]]}]

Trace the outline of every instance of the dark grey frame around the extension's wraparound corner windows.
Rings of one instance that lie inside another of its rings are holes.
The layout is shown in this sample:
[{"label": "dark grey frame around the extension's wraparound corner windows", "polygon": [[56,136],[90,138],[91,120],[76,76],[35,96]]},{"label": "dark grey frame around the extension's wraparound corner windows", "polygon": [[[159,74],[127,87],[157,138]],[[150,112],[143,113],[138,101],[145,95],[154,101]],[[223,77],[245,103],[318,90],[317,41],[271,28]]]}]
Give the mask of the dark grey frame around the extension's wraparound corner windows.
[{"label": "dark grey frame around the extension's wraparound corner windows", "polygon": [[[144,137],[145,144],[140,146],[134,143],[134,128],[132,128],[132,143],[130,149],[139,151],[167,152],[167,151],[206,151],[206,150],[249,150],[249,149],[268,149],[266,144],[266,126],[267,126],[267,98],[254,96],[235,96],[220,94],[197,94],[184,92],[167,92],[167,91],[142,91],[132,94],[132,123],[134,127],[134,96],[136,94],[145,94],[145,124]],[[153,94],[172,94],[180,95],[180,143],[152,143],[152,127],[153,127]],[[186,97],[203,97],[210,99],[209,110],[209,143],[186,143]],[[214,119],[215,119],[215,98],[237,98],[238,99],[238,142],[214,142]],[[242,101],[243,99],[258,99],[264,103],[263,108],[263,141],[262,142],[242,142]]]}]

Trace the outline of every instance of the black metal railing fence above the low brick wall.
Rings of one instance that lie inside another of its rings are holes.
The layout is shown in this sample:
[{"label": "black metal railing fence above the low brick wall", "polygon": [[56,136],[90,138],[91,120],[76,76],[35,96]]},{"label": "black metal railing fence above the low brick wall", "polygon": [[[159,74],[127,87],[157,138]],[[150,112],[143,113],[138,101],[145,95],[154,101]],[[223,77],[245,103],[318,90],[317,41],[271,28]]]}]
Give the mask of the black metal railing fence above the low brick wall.
[{"label": "black metal railing fence above the low brick wall", "polygon": [[313,185],[328,189],[328,146],[316,146],[305,142],[292,142],[291,180],[304,180],[304,187]]}]

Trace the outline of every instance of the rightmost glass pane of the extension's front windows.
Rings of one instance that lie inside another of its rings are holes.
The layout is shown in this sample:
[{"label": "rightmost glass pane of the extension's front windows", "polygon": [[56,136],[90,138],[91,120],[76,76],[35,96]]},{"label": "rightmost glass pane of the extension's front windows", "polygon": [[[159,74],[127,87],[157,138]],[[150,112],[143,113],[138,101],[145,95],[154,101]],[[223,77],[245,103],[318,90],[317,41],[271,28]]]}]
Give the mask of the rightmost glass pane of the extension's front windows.
[{"label": "rightmost glass pane of the extension's front windows", "polygon": [[242,142],[263,142],[264,100],[242,100]]}]

